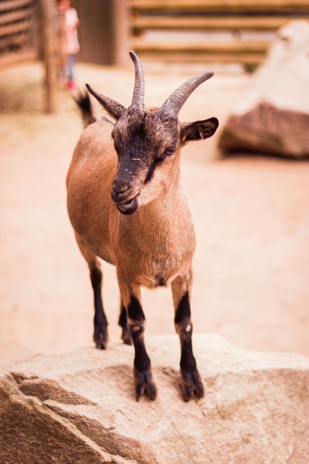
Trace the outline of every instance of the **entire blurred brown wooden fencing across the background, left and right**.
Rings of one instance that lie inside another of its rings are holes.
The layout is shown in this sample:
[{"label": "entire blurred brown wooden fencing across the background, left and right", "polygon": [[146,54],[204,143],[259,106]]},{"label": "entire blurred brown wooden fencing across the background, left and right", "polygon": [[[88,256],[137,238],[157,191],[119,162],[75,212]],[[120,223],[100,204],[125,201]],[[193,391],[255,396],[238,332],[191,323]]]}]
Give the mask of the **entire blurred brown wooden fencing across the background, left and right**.
[{"label": "entire blurred brown wooden fencing across the background, left and right", "polygon": [[[37,6],[44,10],[46,3],[0,0],[0,65],[38,56],[34,12]],[[81,19],[78,58],[99,64],[125,63],[130,49],[141,58],[258,64],[270,45],[269,32],[290,19],[309,19],[309,0],[75,0],[75,4]]]}]

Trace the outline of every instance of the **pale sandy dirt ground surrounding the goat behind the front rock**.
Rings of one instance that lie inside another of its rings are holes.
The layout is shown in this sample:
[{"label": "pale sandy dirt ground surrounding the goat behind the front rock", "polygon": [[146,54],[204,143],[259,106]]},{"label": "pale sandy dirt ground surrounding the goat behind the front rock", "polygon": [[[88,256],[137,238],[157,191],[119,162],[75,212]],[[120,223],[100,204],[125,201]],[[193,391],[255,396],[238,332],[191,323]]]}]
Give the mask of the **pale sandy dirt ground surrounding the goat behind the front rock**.
[{"label": "pale sandy dirt ground surrounding the goat behind the front rock", "polygon": [[[145,64],[145,103],[162,104],[201,71]],[[189,97],[180,119],[217,116],[222,128],[250,78],[215,73]],[[65,89],[59,112],[43,113],[43,79],[39,63],[0,70],[0,362],[93,343],[88,268],[66,212],[66,171],[82,124]],[[132,65],[79,64],[77,80],[131,101]],[[197,238],[194,331],[215,332],[241,348],[309,355],[309,162],[223,158],[219,135],[183,149]],[[118,341],[115,269],[102,267],[110,339]],[[143,303],[146,343],[148,335],[174,333],[170,289],[143,291]]]}]

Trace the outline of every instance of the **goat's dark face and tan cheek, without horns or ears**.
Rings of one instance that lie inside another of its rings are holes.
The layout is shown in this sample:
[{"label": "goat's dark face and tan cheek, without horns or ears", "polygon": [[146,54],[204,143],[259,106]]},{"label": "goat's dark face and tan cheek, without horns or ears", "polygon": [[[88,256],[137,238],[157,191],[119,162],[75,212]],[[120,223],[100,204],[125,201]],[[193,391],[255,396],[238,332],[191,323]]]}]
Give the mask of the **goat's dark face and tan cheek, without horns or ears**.
[{"label": "goat's dark face and tan cheek, without horns or ears", "polygon": [[130,107],[116,122],[112,137],[118,156],[112,199],[121,213],[132,214],[166,193],[179,173],[177,116]]}]

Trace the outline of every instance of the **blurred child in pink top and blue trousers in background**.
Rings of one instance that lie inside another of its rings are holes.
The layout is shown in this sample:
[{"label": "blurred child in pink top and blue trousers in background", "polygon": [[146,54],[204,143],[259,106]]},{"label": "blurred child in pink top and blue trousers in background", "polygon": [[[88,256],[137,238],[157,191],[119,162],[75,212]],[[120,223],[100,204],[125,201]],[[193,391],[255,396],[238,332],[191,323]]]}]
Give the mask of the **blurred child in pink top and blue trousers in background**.
[{"label": "blurred child in pink top and blue trousers in background", "polygon": [[77,11],[71,6],[70,0],[59,0],[58,7],[63,13],[63,53],[66,55],[67,67],[67,83],[69,90],[75,90],[77,85],[74,81],[74,66],[76,62],[76,54],[80,50],[77,27],[80,25],[80,20],[77,16]]}]

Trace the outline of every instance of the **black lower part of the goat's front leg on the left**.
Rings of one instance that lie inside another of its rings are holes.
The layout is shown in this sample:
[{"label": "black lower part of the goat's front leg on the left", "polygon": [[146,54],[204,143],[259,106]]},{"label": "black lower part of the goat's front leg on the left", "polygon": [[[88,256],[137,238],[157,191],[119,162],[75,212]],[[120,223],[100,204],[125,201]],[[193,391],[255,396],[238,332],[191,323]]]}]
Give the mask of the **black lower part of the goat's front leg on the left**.
[{"label": "black lower part of the goat's front leg on the left", "polygon": [[128,324],[134,348],[134,386],[136,400],[141,397],[144,389],[151,400],[157,397],[157,388],[152,378],[151,363],[144,344],[145,316],[139,300],[131,295],[127,307]]}]

